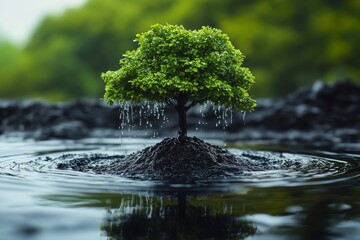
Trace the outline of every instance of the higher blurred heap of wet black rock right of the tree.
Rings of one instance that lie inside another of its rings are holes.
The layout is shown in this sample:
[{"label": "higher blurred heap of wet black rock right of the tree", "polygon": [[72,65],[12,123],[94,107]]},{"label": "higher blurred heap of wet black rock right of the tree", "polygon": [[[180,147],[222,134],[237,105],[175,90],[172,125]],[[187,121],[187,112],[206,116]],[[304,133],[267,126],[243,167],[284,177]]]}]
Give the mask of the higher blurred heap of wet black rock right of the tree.
[{"label": "higher blurred heap of wet black rock right of the tree", "polygon": [[299,89],[272,103],[271,113],[259,122],[252,121],[251,115],[248,121],[274,130],[359,127],[359,103],[360,87],[352,82],[326,85],[318,81],[311,88]]}]

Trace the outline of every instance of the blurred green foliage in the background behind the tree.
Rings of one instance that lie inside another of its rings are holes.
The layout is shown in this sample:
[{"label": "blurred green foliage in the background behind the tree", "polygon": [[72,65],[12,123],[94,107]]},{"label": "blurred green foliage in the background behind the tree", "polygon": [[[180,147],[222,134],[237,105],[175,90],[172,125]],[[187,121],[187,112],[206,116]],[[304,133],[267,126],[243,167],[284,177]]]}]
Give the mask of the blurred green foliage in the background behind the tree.
[{"label": "blurred green foliage in the background behind the tree", "polygon": [[99,98],[101,72],[118,69],[135,34],[155,23],[222,29],[247,57],[255,97],[360,81],[358,0],[88,0],[43,19],[23,47],[0,40],[0,98]]}]

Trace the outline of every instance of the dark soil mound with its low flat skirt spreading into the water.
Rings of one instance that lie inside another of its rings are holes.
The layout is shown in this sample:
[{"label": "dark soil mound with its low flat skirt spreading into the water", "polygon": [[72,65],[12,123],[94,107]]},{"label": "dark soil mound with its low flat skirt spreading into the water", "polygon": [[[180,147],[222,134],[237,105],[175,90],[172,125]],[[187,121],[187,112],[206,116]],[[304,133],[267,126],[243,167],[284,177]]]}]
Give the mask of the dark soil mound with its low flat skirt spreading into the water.
[{"label": "dark soil mound with its low flat skirt spreading into the water", "polygon": [[58,169],[145,179],[203,179],[275,168],[269,159],[240,158],[196,137],[166,138],[130,155],[63,155]]}]

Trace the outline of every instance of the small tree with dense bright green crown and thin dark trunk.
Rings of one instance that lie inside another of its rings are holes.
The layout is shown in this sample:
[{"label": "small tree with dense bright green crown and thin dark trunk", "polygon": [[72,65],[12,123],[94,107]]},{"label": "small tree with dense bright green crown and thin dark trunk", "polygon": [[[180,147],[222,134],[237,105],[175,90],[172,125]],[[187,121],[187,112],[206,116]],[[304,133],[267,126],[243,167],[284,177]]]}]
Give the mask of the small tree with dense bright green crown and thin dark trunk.
[{"label": "small tree with dense bright green crown and thin dark trunk", "polygon": [[178,112],[179,136],[186,136],[186,112],[196,104],[244,111],[256,106],[248,94],[254,77],[241,67],[244,55],[219,29],[156,24],[135,41],[139,47],[124,54],[120,69],[102,74],[110,105],[165,102]]}]

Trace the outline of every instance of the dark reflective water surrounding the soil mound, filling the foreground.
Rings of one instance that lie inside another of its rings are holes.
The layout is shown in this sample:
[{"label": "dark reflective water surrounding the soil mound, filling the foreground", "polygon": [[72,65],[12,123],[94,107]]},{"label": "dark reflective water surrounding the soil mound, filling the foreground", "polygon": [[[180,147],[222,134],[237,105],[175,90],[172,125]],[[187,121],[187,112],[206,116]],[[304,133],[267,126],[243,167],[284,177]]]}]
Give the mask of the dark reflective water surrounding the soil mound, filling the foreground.
[{"label": "dark reflective water surrounding the soil mound, filling the foreground", "polygon": [[36,161],[64,153],[127,154],[159,141],[0,139],[0,239],[360,239],[359,144],[227,144],[234,153],[262,150],[306,167],[186,184],[56,170]]}]

